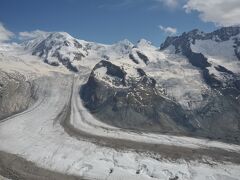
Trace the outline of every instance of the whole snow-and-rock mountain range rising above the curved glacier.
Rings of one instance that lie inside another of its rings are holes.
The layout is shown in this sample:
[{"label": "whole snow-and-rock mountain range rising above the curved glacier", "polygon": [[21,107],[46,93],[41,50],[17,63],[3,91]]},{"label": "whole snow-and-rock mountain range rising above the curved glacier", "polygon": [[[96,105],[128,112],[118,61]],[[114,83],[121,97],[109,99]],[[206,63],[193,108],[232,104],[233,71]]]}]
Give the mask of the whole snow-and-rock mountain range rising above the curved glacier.
[{"label": "whole snow-and-rock mountain range rising above the curved glacier", "polygon": [[240,27],[193,30],[160,48],[145,39],[105,45],[64,32],[21,46],[50,65],[91,69],[80,94],[104,122],[240,141]]}]

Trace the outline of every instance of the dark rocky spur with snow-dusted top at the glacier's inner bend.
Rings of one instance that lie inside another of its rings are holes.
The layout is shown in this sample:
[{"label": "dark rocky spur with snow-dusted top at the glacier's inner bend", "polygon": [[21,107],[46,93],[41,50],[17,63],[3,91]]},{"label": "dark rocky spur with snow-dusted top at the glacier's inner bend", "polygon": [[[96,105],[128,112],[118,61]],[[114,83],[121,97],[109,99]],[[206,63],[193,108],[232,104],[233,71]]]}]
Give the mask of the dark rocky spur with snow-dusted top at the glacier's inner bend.
[{"label": "dark rocky spur with snow-dusted top at the glacier's inner bend", "polygon": [[140,68],[129,70],[135,74],[108,61],[94,67],[80,95],[96,117],[133,130],[177,133],[193,128],[181,106],[163,97],[153,78]]}]

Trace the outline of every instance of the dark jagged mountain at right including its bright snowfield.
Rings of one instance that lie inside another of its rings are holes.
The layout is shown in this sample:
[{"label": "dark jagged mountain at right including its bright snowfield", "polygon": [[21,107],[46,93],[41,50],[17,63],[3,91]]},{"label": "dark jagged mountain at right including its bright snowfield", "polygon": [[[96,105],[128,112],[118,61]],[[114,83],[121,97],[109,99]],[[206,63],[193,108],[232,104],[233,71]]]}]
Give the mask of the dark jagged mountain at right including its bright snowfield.
[{"label": "dark jagged mountain at right including its bright snowfield", "polygon": [[224,86],[240,73],[240,28],[227,27],[212,33],[193,30],[178,37],[169,37],[161,49],[175,47],[190,63],[204,72],[211,86]]}]

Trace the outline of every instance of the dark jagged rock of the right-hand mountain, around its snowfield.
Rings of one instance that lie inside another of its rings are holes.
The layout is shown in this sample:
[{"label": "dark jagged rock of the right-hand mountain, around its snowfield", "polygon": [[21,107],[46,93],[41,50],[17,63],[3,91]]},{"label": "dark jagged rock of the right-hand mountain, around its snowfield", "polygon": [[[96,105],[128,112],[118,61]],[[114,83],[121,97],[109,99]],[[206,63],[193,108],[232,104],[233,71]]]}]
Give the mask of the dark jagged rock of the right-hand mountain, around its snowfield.
[{"label": "dark jagged rock of the right-hand mountain, around its snowfield", "polygon": [[[230,69],[222,65],[214,66],[215,70],[227,77],[227,81],[221,81],[215,74],[209,72],[209,67],[213,66],[201,52],[194,52],[191,48],[191,44],[195,44],[197,40],[211,40],[217,43],[224,43],[232,40],[233,46],[227,47],[233,49],[235,57],[239,59],[240,49],[240,27],[224,27],[211,33],[204,33],[199,30],[193,30],[188,33],[183,33],[181,36],[168,37],[166,41],[161,45],[161,50],[166,49],[170,45],[175,47],[175,53],[181,53],[186,56],[189,62],[199,68],[202,71],[202,76],[205,82],[213,87],[214,89],[220,90],[224,95],[231,94],[235,98],[240,95],[239,83],[240,76],[239,72],[234,73]],[[214,49],[216,47],[212,47]],[[227,61],[228,59],[226,59]]]}]

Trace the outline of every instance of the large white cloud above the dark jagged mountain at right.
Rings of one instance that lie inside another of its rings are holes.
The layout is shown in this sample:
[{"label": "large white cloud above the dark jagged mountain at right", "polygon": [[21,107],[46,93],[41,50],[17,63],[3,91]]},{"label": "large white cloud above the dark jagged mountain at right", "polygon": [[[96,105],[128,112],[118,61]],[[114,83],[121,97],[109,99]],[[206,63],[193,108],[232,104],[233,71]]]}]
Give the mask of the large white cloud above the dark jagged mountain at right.
[{"label": "large white cloud above the dark jagged mountain at right", "polygon": [[204,22],[217,26],[240,25],[240,0],[188,0],[184,8],[187,13],[198,11]]}]

